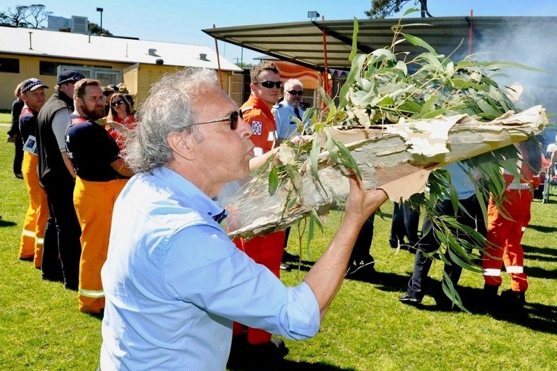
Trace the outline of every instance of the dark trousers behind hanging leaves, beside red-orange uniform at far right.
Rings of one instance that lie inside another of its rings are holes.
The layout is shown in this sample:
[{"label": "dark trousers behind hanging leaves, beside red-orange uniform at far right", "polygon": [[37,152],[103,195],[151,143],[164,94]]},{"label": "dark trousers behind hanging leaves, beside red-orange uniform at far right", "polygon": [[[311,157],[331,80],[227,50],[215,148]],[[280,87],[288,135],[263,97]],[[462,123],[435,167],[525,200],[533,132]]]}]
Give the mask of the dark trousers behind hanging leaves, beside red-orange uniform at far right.
[{"label": "dark trousers behind hanging leaves, beside red-orange uniform at far right", "polygon": [[[461,209],[459,209],[456,214],[456,220],[459,223],[464,224],[464,226],[468,226],[474,229],[476,229],[476,223],[478,223],[478,226],[482,228],[481,226],[484,225],[483,214],[476,196],[474,195],[464,200],[460,200],[460,203],[467,212],[463,212]],[[455,215],[453,203],[451,203],[450,200],[439,201],[435,208],[441,215]],[[482,232],[481,229],[480,232]],[[462,235],[460,237],[466,238],[466,236]],[[430,272],[432,264],[432,258],[426,258],[424,256],[424,253],[432,253],[439,248],[439,242],[434,235],[432,223],[428,218],[425,218],[423,222],[422,237],[418,242],[417,247],[418,249],[416,250],[416,257],[414,258],[414,269],[412,270],[410,281],[408,281],[407,294],[409,294],[411,297],[415,297],[416,299],[423,299],[423,296],[425,295],[424,281],[427,277],[427,274]],[[445,253],[445,258],[448,260],[448,262],[450,262],[450,264],[446,264],[444,267],[445,273],[448,275],[450,281],[456,287],[460,279],[460,274],[462,274],[462,267],[453,262],[448,254],[448,251],[446,251]]]}]

